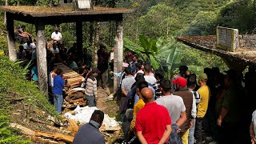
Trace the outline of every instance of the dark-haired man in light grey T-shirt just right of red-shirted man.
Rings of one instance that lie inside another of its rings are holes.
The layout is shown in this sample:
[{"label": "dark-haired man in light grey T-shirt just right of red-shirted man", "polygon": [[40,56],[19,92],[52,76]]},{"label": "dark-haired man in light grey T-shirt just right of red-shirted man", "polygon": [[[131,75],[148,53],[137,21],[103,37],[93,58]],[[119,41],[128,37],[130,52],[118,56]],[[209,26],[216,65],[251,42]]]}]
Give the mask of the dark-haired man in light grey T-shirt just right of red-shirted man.
[{"label": "dark-haired man in light grey T-shirt just right of red-shirted man", "polygon": [[160,83],[163,97],[158,98],[155,102],[158,105],[165,106],[168,110],[172,123],[172,133],[170,134],[170,143],[182,143],[182,139],[178,136],[179,126],[186,122],[186,107],[180,96],[171,94],[171,82],[167,78],[163,78]]}]

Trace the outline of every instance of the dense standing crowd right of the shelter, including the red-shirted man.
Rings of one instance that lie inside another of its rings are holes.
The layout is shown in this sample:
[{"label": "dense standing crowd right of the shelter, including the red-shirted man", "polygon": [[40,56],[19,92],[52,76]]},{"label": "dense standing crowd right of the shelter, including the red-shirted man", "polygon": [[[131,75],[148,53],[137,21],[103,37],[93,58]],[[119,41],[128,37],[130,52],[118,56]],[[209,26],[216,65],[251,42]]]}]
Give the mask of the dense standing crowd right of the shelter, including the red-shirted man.
[{"label": "dense standing crowd right of the shelter, including the red-shirted man", "polygon": [[122,67],[114,76],[122,79],[119,111],[126,142],[134,136],[141,143],[255,142],[254,66],[245,78],[236,70],[222,74],[213,67],[196,75],[180,66],[170,80],[128,53]]}]

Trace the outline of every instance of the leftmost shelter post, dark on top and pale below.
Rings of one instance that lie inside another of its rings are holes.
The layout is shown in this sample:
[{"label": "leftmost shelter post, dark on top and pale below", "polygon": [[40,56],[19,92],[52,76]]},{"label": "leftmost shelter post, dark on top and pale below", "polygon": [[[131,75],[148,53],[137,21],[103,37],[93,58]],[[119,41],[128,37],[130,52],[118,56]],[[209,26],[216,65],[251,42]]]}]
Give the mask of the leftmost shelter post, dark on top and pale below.
[{"label": "leftmost shelter post, dark on top and pale below", "polygon": [[6,13],[6,29],[7,40],[10,61],[15,62],[17,60],[15,37],[14,37],[14,18],[9,13]]}]

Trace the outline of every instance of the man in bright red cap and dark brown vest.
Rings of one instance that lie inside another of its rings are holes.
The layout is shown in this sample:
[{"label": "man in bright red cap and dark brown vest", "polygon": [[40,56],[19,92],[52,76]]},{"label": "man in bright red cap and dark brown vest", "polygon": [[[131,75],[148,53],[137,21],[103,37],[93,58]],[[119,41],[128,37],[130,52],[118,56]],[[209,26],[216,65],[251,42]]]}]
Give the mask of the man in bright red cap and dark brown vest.
[{"label": "man in bright red cap and dark brown vest", "polygon": [[182,143],[188,144],[189,128],[193,126],[194,118],[196,118],[197,116],[195,99],[194,95],[189,90],[187,90],[186,78],[178,77],[177,79],[174,79],[173,83],[177,87],[173,94],[182,97],[183,102],[186,106],[186,122],[184,122],[182,126],[180,126],[180,135],[182,136]]}]

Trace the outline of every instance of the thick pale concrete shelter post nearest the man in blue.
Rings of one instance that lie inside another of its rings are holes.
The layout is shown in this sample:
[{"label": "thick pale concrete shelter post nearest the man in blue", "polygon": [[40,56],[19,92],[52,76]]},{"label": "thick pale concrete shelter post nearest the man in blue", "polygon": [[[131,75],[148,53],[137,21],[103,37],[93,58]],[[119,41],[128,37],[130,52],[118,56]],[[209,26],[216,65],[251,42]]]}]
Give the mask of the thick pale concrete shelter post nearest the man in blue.
[{"label": "thick pale concrete shelter post nearest the man in blue", "polygon": [[38,66],[38,85],[39,89],[48,94],[47,83],[47,62],[46,62],[46,33],[45,24],[42,21],[36,23],[37,29],[37,66]]}]

